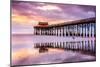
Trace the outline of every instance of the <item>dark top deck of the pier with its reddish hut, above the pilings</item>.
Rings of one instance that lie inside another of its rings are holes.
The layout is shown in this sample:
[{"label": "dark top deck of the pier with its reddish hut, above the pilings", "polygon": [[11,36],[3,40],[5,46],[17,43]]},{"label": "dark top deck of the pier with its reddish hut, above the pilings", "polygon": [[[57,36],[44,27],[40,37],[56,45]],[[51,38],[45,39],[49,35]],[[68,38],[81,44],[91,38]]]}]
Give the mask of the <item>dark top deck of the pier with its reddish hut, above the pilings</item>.
[{"label": "dark top deck of the pier with its reddish hut, above the pilings", "polygon": [[34,26],[34,28],[48,28],[48,27],[54,27],[54,26],[65,26],[65,25],[73,25],[73,24],[83,24],[83,23],[95,23],[96,18],[87,18],[87,19],[81,19],[81,20],[75,20],[75,21],[69,21],[69,22],[64,22],[60,24],[52,24],[48,25],[48,22],[39,22],[37,26]]}]

